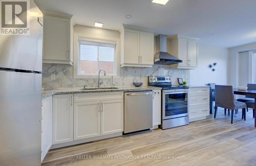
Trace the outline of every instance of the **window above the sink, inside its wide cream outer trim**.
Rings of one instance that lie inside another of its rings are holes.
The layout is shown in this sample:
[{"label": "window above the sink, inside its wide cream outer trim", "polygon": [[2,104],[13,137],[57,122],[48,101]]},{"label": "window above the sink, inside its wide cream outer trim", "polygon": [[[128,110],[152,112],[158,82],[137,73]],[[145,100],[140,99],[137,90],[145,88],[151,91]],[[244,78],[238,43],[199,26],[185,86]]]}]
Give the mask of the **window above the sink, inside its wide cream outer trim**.
[{"label": "window above the sink, inside its wide cream outer trim", "polygon": [[111,42],[79,41],[78,75],[95,76],[100,69],[116,75],[116,44]]}]

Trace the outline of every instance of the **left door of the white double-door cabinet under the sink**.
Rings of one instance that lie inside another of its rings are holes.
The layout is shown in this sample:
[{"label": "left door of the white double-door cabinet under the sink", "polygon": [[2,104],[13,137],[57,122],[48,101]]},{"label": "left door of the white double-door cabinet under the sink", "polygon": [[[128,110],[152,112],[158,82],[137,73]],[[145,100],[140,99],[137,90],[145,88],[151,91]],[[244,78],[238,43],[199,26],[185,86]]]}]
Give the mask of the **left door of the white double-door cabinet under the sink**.
[{"label": "left door of the white double-door cabinet under the sink", "polygon": [[74,140],[100,135],[100,101],[74,104]]}]

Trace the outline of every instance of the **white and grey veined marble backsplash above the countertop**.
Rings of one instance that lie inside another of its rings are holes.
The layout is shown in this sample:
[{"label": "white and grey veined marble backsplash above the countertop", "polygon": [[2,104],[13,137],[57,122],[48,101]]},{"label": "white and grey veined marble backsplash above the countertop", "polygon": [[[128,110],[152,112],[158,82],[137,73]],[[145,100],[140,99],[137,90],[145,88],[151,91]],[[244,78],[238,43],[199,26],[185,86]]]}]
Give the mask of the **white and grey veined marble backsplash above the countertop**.
[{"label": "white and grey veined marble backsplash above the countertop", "polygon": [[[51,74],[55,74],[55,80],[51,79]],[[63,64],[43,64],[42,66],[42,87],[51,88],[77,88],[77,87],[97,87],[98,79],[77,79],[73,77],[74,67]],[[168,75],[172,76],[173,85],[178,85],[178,77],[183,78],[189,84],[189,70],[173,69],[165,65],[154,65],[152,68],[123,67],[120,69],[120,76],[114,77],[116,86],[132,86],[132,82],[143,82],[147,85],[147,76]],[[103,78],[103,79],[102,79]],[[102,87],[110,87],[111,79],[104,79]]]}]

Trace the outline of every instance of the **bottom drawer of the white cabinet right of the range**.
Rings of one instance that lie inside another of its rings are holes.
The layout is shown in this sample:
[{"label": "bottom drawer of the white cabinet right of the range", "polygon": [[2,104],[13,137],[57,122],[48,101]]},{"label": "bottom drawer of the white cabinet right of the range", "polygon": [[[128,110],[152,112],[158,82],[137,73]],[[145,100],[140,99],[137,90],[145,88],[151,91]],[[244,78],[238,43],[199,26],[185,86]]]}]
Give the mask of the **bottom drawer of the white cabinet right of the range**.
[{"label": "bottom drawer of the white cabinet right of the range", "polygon": [[209,115],[209,105],[198,105],[189,107],[189,118]]}]

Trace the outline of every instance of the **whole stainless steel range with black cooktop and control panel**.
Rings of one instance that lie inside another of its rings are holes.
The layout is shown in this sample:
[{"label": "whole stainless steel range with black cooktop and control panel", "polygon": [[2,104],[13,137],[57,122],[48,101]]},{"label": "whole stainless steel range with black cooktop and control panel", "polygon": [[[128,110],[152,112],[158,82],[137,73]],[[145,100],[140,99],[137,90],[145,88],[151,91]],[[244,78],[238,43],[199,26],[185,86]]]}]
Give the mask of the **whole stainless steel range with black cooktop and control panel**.
[{"label": "whole stainless steel range with black cooktop and control panel", "polygon": [[188,87],[173,86],[170,76],[149,76],[148,85],[162,88],[162,129],[189,123]]}]

